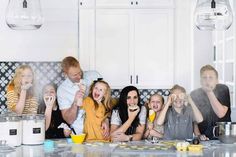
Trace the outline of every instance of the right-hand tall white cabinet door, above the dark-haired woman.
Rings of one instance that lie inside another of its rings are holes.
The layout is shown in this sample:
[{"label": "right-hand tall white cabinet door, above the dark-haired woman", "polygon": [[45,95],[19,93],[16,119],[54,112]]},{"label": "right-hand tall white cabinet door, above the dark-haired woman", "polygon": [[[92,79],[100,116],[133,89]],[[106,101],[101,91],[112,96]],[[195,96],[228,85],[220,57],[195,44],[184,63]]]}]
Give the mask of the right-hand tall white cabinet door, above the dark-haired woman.
[{"label": "right-hand tall white cabinet door, above the dark-haired woman", "polygon": [[173,9],[134,11],[135,83],[168,89],[173,84]]}]

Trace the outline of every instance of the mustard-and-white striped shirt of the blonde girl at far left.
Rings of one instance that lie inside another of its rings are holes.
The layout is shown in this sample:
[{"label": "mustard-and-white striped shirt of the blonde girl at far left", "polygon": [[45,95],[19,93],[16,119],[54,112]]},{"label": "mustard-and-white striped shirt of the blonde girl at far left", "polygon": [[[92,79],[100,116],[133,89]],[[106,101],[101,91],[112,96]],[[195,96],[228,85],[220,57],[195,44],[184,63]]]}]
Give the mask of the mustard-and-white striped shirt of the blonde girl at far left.
[{"label": "mustard-and-white striped shirt of the blonde girl at far left", "polygon": [[[10,111],[15,112],[16,104],[19,101],[19,96],[17,93],[14,92],[14,86],[8,86],[7,88],[7,108]],[[37,114],[38,109],[38,102],[36,97],[27,98],[25,100],[25,106],[22,114]]]}]

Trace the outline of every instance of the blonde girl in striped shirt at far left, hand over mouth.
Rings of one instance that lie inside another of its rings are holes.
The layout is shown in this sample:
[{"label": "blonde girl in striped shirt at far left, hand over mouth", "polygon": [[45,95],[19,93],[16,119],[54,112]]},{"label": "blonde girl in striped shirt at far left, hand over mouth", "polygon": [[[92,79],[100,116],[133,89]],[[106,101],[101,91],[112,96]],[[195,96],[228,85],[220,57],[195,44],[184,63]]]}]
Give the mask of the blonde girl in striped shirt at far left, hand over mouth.
[{"label": "blonde girl in striped shirt at far left, hand over mouth", "polygon": [[6,91],[7,108],[17,114],[36,114],[38,102],[34,95],[34,73],[30,66],[22,65],[16,69],[15,76]]}]

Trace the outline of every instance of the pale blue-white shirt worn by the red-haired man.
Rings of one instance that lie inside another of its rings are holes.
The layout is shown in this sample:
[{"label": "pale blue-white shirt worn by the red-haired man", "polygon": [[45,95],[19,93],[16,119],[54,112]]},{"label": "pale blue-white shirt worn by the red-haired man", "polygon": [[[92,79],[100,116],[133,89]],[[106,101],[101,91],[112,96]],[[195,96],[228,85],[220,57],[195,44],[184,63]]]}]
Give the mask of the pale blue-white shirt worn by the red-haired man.
[{"label": "pale blue-white shirt worn by the red-haired man", "polygon": [[[102,78],[102,76],[96,71],[86,71],[84,72],[84,84],[86,85],[86,96],[89,92],[89,87],[94,80]],[[75,94],[79,90],[79,86],[71,82],[69,78],[62,82],[62,84],[57,89],[57,101],[60,110],[68,109],[74,102]],[[74,128],[76,134],[83,132],[84,127],[84,110],[78,110],[77,118],[71,125]]]}]

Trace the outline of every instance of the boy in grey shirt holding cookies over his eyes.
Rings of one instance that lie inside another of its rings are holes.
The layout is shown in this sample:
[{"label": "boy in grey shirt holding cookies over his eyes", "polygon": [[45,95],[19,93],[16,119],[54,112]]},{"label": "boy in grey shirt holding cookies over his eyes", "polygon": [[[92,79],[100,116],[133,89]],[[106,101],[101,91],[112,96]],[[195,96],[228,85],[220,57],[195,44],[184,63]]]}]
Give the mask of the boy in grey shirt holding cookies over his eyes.
[{"label": "boy in grey shirt holding cookies over his eyes", "polygon": [[174,85],[157,124],[164,124],[164,139],[185,140],[193,138],[193,123],[200,123],[202,120],[201,112],[191,97],[186,95],[185,89]]}]

